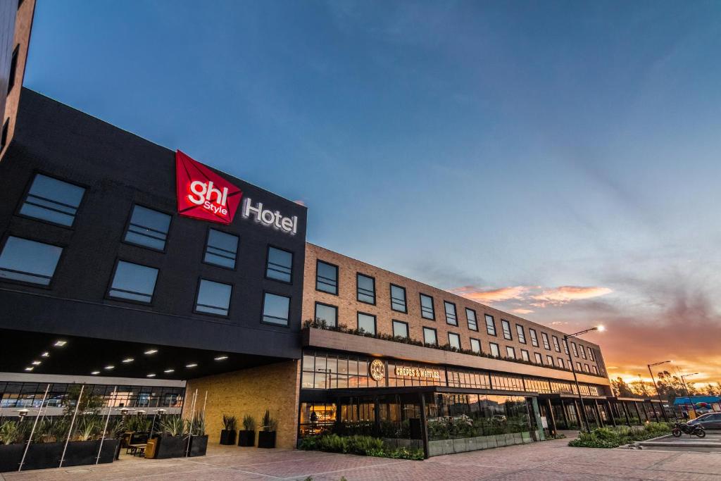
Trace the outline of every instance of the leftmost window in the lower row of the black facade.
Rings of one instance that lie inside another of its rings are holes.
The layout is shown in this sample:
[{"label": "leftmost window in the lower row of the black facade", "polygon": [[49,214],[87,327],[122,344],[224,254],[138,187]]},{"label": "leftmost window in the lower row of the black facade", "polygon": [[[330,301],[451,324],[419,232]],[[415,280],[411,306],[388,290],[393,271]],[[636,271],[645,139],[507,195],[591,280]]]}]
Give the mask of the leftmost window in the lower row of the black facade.
[{"label": "leftmost window in the lower row of the black facade", "polygon": [[0,253],[0,279],[49,286],[62,253],[56,245],[8,237]]}]

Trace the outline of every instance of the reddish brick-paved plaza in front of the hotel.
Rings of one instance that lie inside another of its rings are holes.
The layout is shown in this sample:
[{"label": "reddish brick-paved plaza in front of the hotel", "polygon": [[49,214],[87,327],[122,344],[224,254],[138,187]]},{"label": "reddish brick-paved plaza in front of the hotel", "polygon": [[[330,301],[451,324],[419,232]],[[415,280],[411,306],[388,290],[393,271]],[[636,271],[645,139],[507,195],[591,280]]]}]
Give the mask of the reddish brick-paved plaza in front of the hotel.
[{"label": "reddish brick-paved plaza in front of the hotel", "polygon": [[345,454],[208,446],[193,459],[4,473],[20,480],[721,480],[720,453],[584,449],[567,440],[438,456],[423,462]]}]

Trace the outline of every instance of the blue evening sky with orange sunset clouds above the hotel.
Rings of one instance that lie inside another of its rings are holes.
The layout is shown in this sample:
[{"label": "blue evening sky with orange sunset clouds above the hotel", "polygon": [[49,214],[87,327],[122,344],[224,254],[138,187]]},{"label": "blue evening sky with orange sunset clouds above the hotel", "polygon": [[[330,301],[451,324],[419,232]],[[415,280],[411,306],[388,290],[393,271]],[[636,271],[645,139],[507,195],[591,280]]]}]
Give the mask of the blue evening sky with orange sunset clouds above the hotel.
[{"label": "blue evening sky with orange sunset clouds above the hotel", "polygon": [[[718,1],[37,0],[25,85],[309,242],[721,381]],[[658,368],[657,368],[658,370]]]}]

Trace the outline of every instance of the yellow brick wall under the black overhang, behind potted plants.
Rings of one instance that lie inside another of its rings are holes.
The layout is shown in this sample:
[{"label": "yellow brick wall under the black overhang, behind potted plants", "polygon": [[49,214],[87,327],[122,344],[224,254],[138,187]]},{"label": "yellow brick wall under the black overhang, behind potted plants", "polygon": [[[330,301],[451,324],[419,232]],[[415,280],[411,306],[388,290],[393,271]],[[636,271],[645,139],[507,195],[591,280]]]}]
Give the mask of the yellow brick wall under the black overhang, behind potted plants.
[{"label": "yellow brick wall under the black overhang, behind potted plants", "polygon": [[183,416],[190,418],[195,389],[198,389],[196,410],[203,409],[205,391],[208,391],[208,403],[205,406],[205,433],[208,434],[208,443],[220,442],[224,414],[238,418],[239,429],[243,428],[243,416],[247,414],[255,417],[255,422],[260,427],[262,416],[268,409],[270,415],[278,420],[275,446],[295,449],[298,429],[299,363],[300,361],[286,361],[190,379],[187,381]]}]

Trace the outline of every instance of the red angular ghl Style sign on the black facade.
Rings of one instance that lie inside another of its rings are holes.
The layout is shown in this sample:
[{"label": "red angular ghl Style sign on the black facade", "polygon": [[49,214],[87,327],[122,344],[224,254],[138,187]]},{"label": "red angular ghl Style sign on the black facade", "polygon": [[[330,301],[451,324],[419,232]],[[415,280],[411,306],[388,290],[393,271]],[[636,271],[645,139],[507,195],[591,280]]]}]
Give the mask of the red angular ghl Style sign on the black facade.
[{"label": "red angular ghl Style sign on the black facade", "polygon": [[208,166],[175,152],[178,213],[203,221],[230,224],[242,191]]}]

